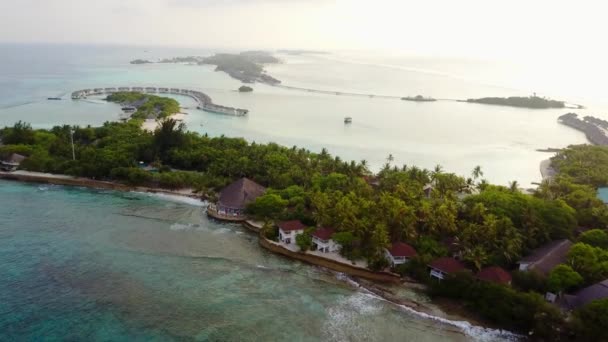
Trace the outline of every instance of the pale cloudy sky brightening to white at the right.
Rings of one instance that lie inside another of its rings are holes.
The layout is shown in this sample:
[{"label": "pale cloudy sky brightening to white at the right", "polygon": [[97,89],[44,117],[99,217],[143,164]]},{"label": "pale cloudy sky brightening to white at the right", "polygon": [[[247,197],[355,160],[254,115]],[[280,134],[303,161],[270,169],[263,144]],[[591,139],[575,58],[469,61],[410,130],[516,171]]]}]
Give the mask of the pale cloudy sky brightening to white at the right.
[{"label": "pale cloudy sky brightening to white at the right", "polygon": [[0,41],[608,57],[602,1],[0,0]]}]

